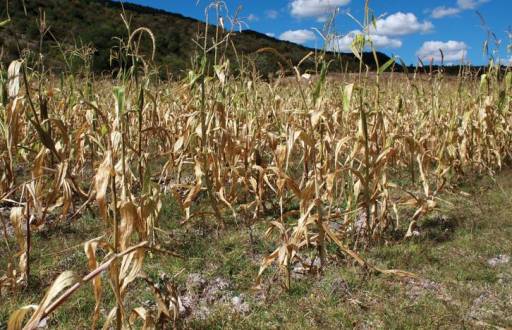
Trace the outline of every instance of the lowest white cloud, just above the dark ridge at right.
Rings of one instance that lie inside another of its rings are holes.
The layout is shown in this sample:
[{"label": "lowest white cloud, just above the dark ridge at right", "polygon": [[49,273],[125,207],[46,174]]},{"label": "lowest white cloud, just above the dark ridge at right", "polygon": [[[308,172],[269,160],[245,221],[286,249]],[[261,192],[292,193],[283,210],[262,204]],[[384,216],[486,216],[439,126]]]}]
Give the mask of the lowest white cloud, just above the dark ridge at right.
[{"label": "lowest white cloud, just above the dark ridge at right", "polygon": [[427,41],[423,43],[416,55],[422,60],[440,62],[441,52],[439,50],[443,51],[446,62],[460,62],[466,58],[468,46],[463,41]]}]

